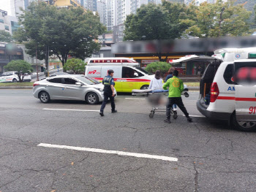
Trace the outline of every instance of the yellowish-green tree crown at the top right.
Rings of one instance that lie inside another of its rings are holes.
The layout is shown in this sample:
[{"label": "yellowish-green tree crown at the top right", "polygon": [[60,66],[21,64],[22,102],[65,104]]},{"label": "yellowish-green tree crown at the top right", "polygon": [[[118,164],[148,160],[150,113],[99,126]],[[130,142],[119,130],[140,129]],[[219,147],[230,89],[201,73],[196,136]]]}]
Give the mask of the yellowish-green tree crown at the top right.
[{"label": "yellowish-green tree crown at the top right", "polygon": [[[203,2],[195,10],[196,17],[181,22],[190,23],[185,34],[194,37],[241,36],[249,31],[249,17],[252,12],[244,4],[234,4],[234,0],[215,4]],[[193,5],[189,5],[193,6]]]}]

